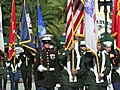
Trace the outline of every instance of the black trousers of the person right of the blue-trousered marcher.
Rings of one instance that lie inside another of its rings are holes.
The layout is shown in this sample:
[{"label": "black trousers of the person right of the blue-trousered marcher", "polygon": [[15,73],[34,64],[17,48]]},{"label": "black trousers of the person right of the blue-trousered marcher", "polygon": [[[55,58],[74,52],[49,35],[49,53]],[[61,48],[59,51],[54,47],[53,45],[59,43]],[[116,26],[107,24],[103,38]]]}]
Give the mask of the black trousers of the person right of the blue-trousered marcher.
[{"label": "black trousers of the person right of the blue-trousered marcher", "polygon": [[25,90],[31,90],[32,89],[32,70],[30,71],[21,70],[21,74],[22,74]]}]

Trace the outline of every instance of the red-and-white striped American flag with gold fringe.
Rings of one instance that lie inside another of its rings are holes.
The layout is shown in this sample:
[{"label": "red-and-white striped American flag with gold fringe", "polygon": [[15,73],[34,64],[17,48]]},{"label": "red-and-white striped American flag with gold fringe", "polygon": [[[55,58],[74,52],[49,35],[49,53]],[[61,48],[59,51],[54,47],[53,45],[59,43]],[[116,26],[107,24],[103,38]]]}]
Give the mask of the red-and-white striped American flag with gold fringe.
[{"label": "red-and-white striped American flag with gold fringe", "polygon": [[[77,30],[80,30],[84,16],[84,4],[82,0],[68,0],[67,2],[67,25],[66,25],[66,48],[72,43],[72,38]],[[73,30],[72,30],[73,29]],[[81,31],[80,31],[81,32]],[[81,33],[83,34],[83,32]]]}]

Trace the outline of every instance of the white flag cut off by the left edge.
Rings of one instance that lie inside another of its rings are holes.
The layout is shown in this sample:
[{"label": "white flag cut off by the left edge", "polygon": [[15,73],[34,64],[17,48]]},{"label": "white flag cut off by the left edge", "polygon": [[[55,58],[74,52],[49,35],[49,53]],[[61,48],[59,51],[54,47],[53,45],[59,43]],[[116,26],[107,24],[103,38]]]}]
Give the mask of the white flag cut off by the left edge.
[{"label": "white flag cut off by the left edge", "polygon": [[2,29],[2,10],[0,5],[0,50],[4,52],[4,39],[3,39],[3,29]]}]

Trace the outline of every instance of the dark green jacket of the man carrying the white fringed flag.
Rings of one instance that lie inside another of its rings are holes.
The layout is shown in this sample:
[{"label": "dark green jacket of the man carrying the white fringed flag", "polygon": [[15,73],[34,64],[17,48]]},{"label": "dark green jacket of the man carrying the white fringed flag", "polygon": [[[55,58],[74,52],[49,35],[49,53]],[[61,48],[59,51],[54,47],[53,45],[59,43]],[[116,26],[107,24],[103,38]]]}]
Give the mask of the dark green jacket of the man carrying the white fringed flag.
[{"label": "dark green jacket of the man carrying the white fringed flag", "polygon": [[[105,54],[105,69],[103,72],[101,72],[101,65],[102,65],[102,61],[103,61],[103,58],[102,58],[102,52],[100,52],[100,55],[98,55],[98,62],[99,62],[99,67],[100,67],[100,72],[104,74],[103,76],[103,80],[104,82],[102,83],[96,83],[96,76],[95,76],[95,73],[94,71],[92,71],[91,69],[93,69],[94,65],[93,65],[93,59],[95,58],[91,52],[88,52],[85,56],[85,64],[87,66],[87,68],[89,69],[89,72],[88,72],[88,76],[87,76],[87,79],[85,81],[85,84],[86,85],[93,85],[93,86],[107,86],[108,83],[107,83],[107,75],[109,74],[110,72],[110,69],[111,69],[111,66],[110,66],[110,58],[109,56]],[[94,87],[90,90],[96,90]]]}]

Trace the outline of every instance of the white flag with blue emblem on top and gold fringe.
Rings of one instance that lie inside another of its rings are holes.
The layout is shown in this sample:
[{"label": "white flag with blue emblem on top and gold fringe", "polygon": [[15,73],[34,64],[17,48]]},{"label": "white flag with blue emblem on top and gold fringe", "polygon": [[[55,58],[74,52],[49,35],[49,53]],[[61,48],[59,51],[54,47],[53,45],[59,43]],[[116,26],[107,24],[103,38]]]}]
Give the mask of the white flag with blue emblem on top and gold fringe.
[{"label": "white flag with blue emblem on top and gold fringe", "polygon": [[85,42],[86,46],[97,53],[98,29],[94,0],[85,0]]}]

